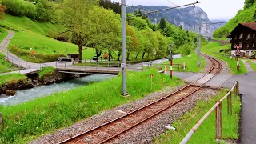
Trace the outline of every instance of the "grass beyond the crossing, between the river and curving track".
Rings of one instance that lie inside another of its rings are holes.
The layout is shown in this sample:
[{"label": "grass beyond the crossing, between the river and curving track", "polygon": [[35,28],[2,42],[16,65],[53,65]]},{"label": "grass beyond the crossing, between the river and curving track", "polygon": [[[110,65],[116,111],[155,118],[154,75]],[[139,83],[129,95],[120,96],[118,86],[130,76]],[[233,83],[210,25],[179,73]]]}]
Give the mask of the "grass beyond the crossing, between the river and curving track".
[{"label": "grass beyond the crossing, between the river and curving track", "polygon": [[[186,71],[186,72],[200,72],[204,66],[206,66],[206,61],[204,58],[200,59],[201,66],[198,67],[198,54],[196,54],[194,51],[191,52],[190,55],[183,56],[182,58],[174,59],[174,64],[182,64],[185,62],[186,70],[183,70],[182,68],[179,69],[179,71]],[[164,70],[164,65],[168,66],[168,69],[170,70],[170,61],[163,62],[161,65],[156,66],[162,66],[162,69]],[[177,67],[177,66],[176,66]],[[174,71],[178,71],[178,69],[174,69]]]}]

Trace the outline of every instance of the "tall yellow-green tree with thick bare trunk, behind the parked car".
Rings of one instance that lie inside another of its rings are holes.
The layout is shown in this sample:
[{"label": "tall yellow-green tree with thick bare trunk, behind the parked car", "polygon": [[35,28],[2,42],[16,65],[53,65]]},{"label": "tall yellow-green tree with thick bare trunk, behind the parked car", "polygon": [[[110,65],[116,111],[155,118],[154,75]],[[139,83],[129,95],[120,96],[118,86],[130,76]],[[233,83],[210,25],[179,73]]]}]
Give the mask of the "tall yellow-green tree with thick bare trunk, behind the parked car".
[{"label": "tall yellow-green tree with thick bare trunk, behind the parked car", "polygon": [[82,51],[90,36],[90,10],[96,5],[94,0],[64,0],[59,22],[72,34],[72,42],[78,45],[78,59],[82,60]]}]

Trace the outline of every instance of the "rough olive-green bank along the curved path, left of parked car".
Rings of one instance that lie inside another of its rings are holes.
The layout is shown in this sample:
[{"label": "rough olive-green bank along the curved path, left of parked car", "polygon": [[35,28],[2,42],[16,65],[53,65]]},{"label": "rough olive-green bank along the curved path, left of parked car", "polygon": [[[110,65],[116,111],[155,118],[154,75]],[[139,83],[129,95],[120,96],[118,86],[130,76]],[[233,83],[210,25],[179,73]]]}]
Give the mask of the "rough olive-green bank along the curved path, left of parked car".
[{"label": "rough olive-green bank along the curved path, left of parked car", "polygon": [[30,52],[21,50],[17,46],[10,46],[10,52],[18,55],[20,58],[25,59],[28,62],[43,63],[43,62],[54,62],[58,57],[65,57],[63,54],[35,54],[32,55]]}]

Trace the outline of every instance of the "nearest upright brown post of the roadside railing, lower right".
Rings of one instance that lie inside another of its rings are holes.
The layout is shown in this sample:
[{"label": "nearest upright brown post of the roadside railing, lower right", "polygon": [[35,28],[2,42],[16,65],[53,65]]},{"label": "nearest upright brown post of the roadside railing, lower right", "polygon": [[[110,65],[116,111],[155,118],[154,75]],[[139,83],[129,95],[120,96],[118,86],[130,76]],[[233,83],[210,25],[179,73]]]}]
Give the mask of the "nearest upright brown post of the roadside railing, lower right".
[{"label": "nearest upright brown post of the roadside railing, lower right", "polygon": [[[222,139],[222,102],[219,102],[219,105],[216,107],[215,115],[216,115],[216,139]],[[217,103],[216,102],[216,103]]]}]

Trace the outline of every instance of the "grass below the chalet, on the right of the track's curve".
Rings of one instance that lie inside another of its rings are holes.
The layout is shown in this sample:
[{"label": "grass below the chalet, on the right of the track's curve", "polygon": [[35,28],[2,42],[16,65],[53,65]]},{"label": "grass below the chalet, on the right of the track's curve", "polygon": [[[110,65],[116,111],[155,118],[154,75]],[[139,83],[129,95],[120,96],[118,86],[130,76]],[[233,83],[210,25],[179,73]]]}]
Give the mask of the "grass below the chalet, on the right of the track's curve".
[{"label": "grass below the chalet, on the right of the track's curve", "polygon": [[[232,70],[233,74],[246,74],[246,66],[240,61],[240,70],[237,70],[237,61],[236,59],[231,59],[224,57],[220,53],[220,50],[228,50],[230,49],[230,45],[221,46],[218,42],[209,42],[206,46],[202,47],[202,53],[210,54],[216,58],[219,58],[225,62],[227,62],[227,66]],[[216,54],[217,53],[217,54]]]}]

